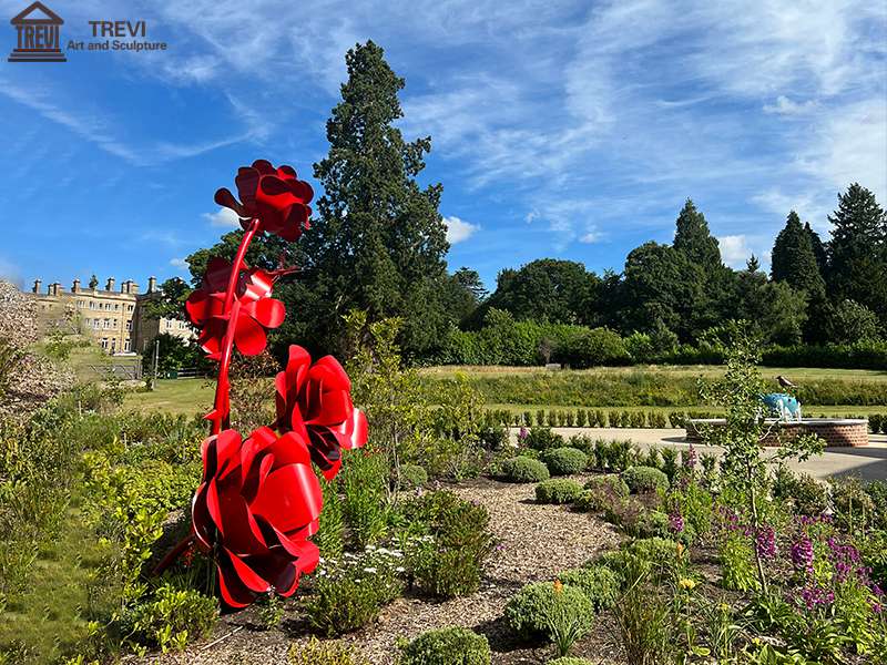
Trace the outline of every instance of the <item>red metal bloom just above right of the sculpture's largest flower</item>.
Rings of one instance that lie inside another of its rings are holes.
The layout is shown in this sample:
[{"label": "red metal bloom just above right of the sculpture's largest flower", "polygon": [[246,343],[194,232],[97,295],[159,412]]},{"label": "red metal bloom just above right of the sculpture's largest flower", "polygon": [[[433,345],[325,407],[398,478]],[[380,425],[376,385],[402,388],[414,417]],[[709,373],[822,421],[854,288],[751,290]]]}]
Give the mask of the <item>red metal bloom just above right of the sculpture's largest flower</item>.
[{"label": "red metal bloom just above right of the sculpture's largest flower", "polygon": [[341,449],[367,441],[367,419],[351,403],[348,375],[333,356],[312,365],[308,351],[293,345],[275,386],[277,428],[307,441],[314,463],[332,480],[341,467]]}]

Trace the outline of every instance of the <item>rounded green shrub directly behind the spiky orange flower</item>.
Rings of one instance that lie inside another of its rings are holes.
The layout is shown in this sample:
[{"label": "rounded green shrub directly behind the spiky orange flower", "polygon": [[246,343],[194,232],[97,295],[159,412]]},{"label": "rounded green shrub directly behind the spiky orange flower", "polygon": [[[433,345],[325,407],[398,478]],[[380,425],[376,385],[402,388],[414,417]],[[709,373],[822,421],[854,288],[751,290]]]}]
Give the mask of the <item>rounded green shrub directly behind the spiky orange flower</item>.
[{"label": "rounded green shrub directly behind the spiky orange flower", "polygon": [[574,618],[582,632],[591,627],[594,605],[581,590],[564,584],[560,590],[551,582],[533,582],[521,589],[506,606],[506,618],[524,640],[544,640],[555,614]]}]

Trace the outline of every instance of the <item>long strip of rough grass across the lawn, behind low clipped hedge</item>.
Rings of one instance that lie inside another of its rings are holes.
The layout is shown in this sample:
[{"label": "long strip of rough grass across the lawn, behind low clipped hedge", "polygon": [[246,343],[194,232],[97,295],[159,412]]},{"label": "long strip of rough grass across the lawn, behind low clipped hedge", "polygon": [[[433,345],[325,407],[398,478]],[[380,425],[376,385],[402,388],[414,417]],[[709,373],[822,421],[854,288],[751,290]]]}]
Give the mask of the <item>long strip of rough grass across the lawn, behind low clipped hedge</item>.
[{"label": "long strip of rough grass across the lawn, behind low clipped hedge", "polygon": [[[651,370],[574,372],[538,371],[499,376],[468,375],[468,382],[479,390],[487,403],[561,405],[564,407],[705,407],[699,393],[699,379]],[[441,392],[441,381],[452,379],[424,376],[429,399]],[[711,379],[706,379],[711,380]],[[767,387],[782,391],[775,381]],[[887,405],[887,381],[844,379],[806,380],[794,389],[807,406]]]}]

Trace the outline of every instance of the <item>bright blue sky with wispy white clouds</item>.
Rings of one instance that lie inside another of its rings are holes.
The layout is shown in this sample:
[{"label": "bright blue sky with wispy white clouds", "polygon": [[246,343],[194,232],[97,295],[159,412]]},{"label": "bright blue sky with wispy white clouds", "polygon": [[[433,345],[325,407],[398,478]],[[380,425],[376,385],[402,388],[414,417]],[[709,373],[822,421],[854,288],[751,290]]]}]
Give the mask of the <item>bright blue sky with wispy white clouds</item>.
[{"label": "bright blue sky with wispy white clouds", "polygon": [[[28,3],[0,0],[0,48]],[[490,288],[543,256],[620,269],[687,196],[735,267],[791,208],[827,234],[853,181],[887,203],[883,1],[45,3],[64,41],[144,20],[169,50],[0,63],[0,274],[23,284],[185,276],[237,166],[312,181],[366,39],[406,78],[406,136],[432,137],[450,268]]]}]

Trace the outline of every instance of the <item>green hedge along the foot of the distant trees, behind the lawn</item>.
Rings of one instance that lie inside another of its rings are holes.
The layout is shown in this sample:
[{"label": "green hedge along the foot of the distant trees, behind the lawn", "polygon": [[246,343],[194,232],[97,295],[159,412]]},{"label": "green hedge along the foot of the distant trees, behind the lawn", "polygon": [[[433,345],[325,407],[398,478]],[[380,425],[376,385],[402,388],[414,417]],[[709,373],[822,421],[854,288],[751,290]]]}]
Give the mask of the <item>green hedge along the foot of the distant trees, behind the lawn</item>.
[{"label": "green hedge along the foot of the distant trees, behind the lawn", "polygon": [[[657,350],[649,335],[621,337],[608,328],[538,321],[506,321],[480,330],[451,330],[431,359],[440,365],[510,365],[531,367],[546,361],[580,369],[625,365],[722,365],[724,349],[677,345]],[[883,369],[887,341],[855,345],[769,347],[763,364],[772,367]]]}]

